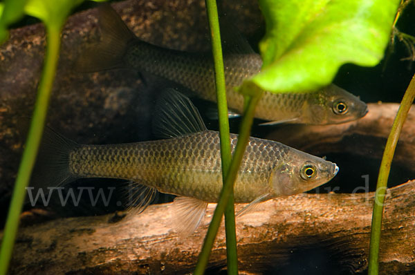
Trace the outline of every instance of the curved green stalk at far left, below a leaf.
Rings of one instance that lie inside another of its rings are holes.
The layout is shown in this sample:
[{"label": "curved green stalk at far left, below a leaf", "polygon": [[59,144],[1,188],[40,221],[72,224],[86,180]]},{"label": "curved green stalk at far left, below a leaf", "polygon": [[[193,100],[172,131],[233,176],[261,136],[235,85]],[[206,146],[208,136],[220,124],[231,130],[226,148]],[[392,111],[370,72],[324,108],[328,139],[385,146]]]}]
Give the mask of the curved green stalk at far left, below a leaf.
[{"label": "curved green stalk at far left, below a leaf", "polygon": [[28,139],[26,140],[26,148],[21,158],[19,171],[17,173],[15,189],[12,194],[6,227],[4,229],[3,241],[1,243],[0,250],[0,275],[6,274],[10,258],[12,256],[17,229],[19,227],[19,216],[21,214],[21,209],[23,208],[24,198],[26,195],[26,187],[28,186],[28,182],[30,180],[30,174],[32,173],[33,165],[35,164],[37,151],[39,149],[42,133],[44,131],[44,123],[48,110],[50,92],[52,91],[57,59],[59,57],[60,28],[47,26],[46,32],[47,43],[44,70],[42,73],[42,79],[39,83],[35,110],[33,111],[33,119],[30,124]]}]

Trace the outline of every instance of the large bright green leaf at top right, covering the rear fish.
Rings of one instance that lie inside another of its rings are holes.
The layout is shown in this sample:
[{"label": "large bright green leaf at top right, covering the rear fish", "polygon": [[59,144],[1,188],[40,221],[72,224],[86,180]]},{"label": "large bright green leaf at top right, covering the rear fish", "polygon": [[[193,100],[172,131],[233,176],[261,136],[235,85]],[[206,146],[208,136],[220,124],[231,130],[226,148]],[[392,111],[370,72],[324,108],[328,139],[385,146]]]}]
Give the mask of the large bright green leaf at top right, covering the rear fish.
[{"label": "large bright green leaf at top right, covering the rear fish", "polygon": [[259,44],[264,65],[246,82],[274,93],[311,91],[329,84],[342,64],[375,66],[399,2],[260,0],[266,19]]}]

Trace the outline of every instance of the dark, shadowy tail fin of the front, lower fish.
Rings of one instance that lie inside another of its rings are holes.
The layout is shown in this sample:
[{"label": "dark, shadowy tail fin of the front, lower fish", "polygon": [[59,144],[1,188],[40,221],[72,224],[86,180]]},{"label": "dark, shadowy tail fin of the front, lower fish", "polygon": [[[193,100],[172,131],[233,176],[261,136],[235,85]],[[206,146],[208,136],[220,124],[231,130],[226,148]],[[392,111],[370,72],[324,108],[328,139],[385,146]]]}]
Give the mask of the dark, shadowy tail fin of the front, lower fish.
[{"label": "dark, shadowy tail fin of the front, lower fish", "polygon": [[80,145],[46,127],[30,179],[33,196],[37,196],[39,189],[48,193],[50,188],[79,178],[71,173],[69,167],[69,156],[76,146]]}]

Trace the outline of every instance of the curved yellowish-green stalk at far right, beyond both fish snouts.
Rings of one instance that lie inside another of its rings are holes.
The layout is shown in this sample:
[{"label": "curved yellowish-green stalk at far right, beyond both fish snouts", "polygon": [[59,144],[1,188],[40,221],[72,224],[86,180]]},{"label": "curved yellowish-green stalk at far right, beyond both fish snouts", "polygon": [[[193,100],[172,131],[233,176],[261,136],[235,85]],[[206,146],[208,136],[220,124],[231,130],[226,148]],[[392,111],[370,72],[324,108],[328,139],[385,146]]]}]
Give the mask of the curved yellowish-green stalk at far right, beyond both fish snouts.
[{"label": "curved yellowish-green stalk at far right, beyond both fish snouts", "polygon": [[379,245],[380,231],[382,229],[383,202],[385,201],[385,193],[387,189],[387,179],[391,169],[391,162],[394,158],[396,144],[398,143],[400,132],[405,123],[409,108],[412,106],[415,98],[415,75],[403,95],[402,102],[396,114],[394,124],[392,124],[391,132],[387,138],[385,151],[383,152],[382,162],[380,163],[378,184],[376,185],[376,194],[374,201],[374,212],[371,222],[371,235],[369,245],[369,269],[368,274],[379,274]]}]

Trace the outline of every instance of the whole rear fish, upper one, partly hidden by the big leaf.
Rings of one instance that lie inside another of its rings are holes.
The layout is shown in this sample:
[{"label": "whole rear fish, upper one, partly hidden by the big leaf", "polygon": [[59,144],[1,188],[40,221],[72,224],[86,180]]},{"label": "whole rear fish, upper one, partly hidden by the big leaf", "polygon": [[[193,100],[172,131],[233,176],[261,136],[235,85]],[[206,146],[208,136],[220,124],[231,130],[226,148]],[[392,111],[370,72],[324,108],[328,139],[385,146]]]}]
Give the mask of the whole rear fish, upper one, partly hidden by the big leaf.
[{"label": "whole rear fish, upper one, partly hidden by the big leaf", "polygon": [[[216,102],[212,54],[202,55],[154,46],[133,34],[109,4],[98,7],[101,41],[82,50],[75,67],[81,72],[130,68],[189,89],[201,99]],[[223,28],[227,30],[227,28]],[[236,31],[223,31],[230,37],[224,47],[228,108],[243,113],[243,95],[234,90],[244,79],[261,70],[261,56]],[[255,117],[269,124],[340,124],[358,120],[367,113],[367,105],[344,89],[330,84],[309,93],[270,93],[265,91],[257,104]]]}]

